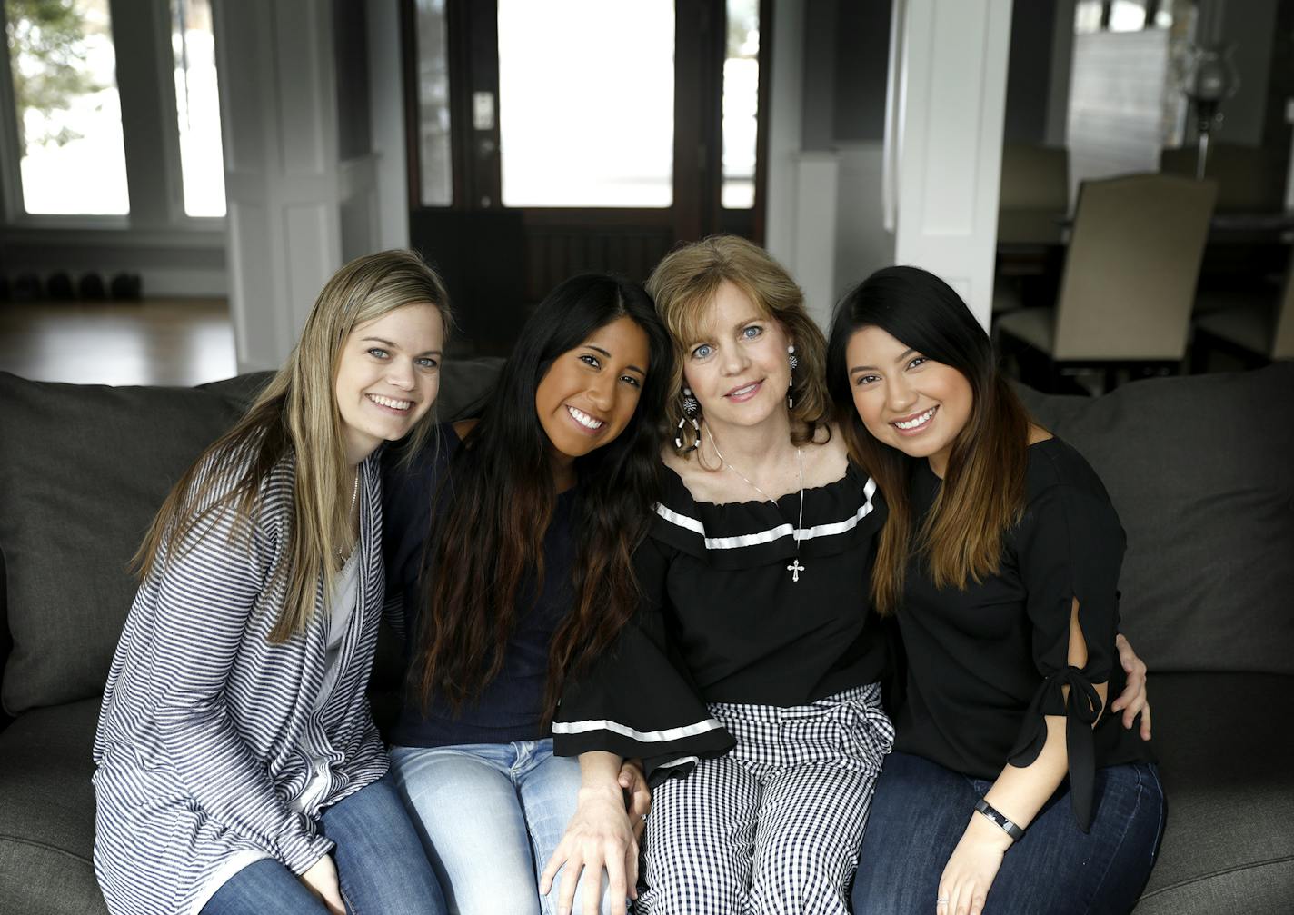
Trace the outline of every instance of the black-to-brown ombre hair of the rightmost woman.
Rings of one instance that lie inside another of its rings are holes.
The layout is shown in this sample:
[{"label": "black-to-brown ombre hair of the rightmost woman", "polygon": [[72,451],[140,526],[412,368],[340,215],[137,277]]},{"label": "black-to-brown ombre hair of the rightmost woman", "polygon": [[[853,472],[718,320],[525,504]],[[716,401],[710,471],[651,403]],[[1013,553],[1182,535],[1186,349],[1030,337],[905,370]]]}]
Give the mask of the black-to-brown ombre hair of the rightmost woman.
[{"label": "black-to-brown ombre hair of the rightmost woman", "polygon": [[[970,415],[952,441],[943,485],[920,527],[907,497],[914,458],[873,439],[854,409],[846,349],[870,326],[956,369],[970,384]],[[872,571],[876,610],[889,615],[902,604],[903,572],[914,553],[924,554],[938,588],[964,589],[996,573],[1003,537],[1025,507],[1030,418],[998,371],[989,335],[952,287],[917,267],[886,267],[855,286],[832,320],[827,386],[850,457],[889,505]]]}]

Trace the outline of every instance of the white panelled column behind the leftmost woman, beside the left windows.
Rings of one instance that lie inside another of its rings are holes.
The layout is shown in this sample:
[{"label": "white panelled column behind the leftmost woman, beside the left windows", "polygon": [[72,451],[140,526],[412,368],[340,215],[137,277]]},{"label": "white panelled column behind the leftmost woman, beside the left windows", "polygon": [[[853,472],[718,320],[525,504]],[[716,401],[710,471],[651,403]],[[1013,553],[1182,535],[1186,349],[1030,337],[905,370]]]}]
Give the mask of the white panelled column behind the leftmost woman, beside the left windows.
[{"label": "white panelled column behind the leftmost woman, beside the left windows", "polygon": [[373,176],[339,160],[333,4],[221,3],[214,13],[229,305],[238,370],[248,371],[283,361],[343,246],[365,247],[343,238],[343,207],[371,221],[348,198]]}]

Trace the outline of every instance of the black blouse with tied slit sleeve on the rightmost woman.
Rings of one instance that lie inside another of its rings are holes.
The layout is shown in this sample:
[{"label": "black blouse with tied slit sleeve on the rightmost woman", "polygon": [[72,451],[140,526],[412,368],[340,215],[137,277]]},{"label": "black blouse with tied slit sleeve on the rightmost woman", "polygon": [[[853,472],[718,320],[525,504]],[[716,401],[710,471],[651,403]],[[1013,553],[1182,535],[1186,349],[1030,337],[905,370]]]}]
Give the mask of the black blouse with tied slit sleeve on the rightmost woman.
[{"label": "black blouse with tied slit sleeve on the rightmost woman", "polygon": [[[941,485],[925,461],[914,465],[915,519]],[[1065,716],[1074,814],[1086,830],[1095,769],[1152,758],[1119,716],[1105,713],[1092,729],[1102,712],[1093,685],[1108,683],[1108,699],[1123,689],[1114,647],[1123,549],[1118,515],[1087,461],[1058,439],[1031,445],[1025,511],[1004,537],[996,575],[941,589],[924,557],[908,563],[897,615],[907,663],[894,749],[995,779],[1008,762],[1038,758],[1044,716]],[[1069,665],[1075,598],[1082,669]]]}]

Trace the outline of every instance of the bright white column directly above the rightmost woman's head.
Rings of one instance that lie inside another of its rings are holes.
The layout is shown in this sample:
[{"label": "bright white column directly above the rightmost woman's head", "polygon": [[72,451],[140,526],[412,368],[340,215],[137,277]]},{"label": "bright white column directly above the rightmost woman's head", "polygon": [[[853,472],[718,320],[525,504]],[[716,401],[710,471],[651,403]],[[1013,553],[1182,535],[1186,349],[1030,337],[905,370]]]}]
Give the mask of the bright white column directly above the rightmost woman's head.
[{"label": "bright white column directly above the rightmost woman's head", "polygon": [[992,305],[1011,0],[895,0],[886,124],[894,258]]}]

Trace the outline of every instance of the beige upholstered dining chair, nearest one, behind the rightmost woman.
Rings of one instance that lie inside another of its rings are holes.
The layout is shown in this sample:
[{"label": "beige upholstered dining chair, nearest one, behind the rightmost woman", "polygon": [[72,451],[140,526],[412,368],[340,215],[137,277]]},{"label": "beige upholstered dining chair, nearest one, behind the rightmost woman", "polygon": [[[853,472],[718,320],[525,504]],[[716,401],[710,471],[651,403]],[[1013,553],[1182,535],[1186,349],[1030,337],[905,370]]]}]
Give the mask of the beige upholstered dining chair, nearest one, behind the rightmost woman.
[{"label": "beige upholstered dining chair, nearest one, behind the rightmost woman", "polygon": [[1100,366],[1106,387],[1119,370],[1178,371],[1209,234],[1216,184],[1170,175],[1084,181],[1055,309],[998,317],[995,333],[1026,380],[1057,390],[1066,369]]}]

